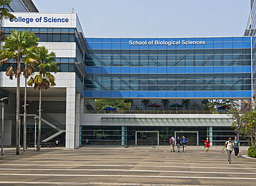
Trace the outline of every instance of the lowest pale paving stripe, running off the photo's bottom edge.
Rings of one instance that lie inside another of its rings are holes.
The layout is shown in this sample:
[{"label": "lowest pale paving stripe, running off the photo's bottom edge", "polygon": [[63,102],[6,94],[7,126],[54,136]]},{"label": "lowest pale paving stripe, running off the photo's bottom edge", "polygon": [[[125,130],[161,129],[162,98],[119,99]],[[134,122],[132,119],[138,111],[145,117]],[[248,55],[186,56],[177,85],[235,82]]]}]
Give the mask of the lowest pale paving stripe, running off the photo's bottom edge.
[{"label": "lowest pale paving stripe, running off the photo's bottom edge", "polygon": [[[25,184],[25,185],[42,185],[42,184],[48,184],[48,185],[142,185],[142,186],[155,186],[155,185],[161,185],[161,186],[181,186],[181,185],[170,185],[170,184],[142,184],[142,183],[99,183],[99,182],[35,182],[35,181],[0,181],[0,184]],[[190,185],[182,185],[182,186],[190,186]],[[193,185],[198,186],[198,185]],[[206,185],[200,185],[200,186],[206,186]],[[207,185],[212,186],[212,185]]]}]

